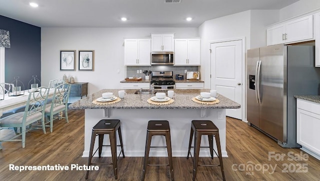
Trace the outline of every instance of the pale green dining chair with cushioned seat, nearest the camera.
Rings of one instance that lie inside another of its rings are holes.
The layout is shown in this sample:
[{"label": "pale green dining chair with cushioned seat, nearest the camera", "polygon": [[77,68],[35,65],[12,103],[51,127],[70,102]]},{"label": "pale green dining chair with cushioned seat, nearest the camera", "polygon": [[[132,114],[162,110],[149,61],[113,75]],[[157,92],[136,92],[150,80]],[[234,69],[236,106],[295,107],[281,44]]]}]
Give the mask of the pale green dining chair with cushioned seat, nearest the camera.
[{"label": "pale green dining chair with cushioned seat, nearest the camera", "polygon": [[[48,97],[49,88],[38,87],[36,90],[31,91],[28,95],[26,101],[25,109],[22,112],[17,112],[8,115],[0,119],[0,127],[20,127],[20,133],[4,141],[22,141],[22,148],[25,147],[25,132],[30,129],[38,128],[31,127],[31,124],[41,120],[42,130],[45,134],[45,124],[44,124],[44,106]],[[28,126],[27,126],[28,125]],[[26,127],[28,130],[26,130]],[[22,136],[21,139],[15,139],[18,136]]]}]

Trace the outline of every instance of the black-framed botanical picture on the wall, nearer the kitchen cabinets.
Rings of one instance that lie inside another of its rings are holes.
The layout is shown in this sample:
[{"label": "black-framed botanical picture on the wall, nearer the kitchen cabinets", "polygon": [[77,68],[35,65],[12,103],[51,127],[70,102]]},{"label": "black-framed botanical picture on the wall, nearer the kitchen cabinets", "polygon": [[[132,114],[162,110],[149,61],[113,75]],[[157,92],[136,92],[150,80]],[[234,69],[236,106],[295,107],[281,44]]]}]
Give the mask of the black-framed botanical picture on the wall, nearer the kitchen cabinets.
[{"label": "black-framed botanical picture on the wall, nearer the kitchen cabinets", "polygon": [[94,50],[79,50],[79,70],[93,70]]}]

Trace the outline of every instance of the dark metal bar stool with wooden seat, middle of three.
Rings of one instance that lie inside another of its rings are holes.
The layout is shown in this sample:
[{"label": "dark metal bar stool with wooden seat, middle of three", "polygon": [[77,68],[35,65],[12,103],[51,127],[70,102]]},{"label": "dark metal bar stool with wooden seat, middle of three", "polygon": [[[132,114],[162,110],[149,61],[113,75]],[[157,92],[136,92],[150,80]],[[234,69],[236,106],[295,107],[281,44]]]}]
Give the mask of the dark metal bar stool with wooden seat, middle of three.
[{"label": "dark metal bar stool with wooden seat, middle of three", "polygon": [[[166,146],[150,146],[151,138],[153,135],[165,136]],[[169,164],[148,164],[147,162],[148,162],[150,147],[166,147],[166,150],[168,153]],[[148,166],[169,166],[171,180],[173,180],[170,126],[169,126],[169,122],[167,120],[149,120],[148,121],[148,126],[147,126],[147,131],[146,131],[144,160],[143,160],[142,180],[144,180],[147,165]]]}]

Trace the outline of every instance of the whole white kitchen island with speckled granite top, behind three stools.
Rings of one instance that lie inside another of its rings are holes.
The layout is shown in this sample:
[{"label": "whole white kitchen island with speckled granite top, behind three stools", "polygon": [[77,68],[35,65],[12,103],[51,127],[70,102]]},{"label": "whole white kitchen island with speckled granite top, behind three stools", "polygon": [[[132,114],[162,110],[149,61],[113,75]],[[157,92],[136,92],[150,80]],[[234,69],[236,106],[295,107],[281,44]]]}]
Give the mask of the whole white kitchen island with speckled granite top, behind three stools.
[{"label": "whole white kitchen island with speckled granite top, behind three stools", "polygon": [[[102,89],[69,105],[71,109],[85,109],[84,117],[84,151],[82,157],[88,157],[91,130],[100,119],[120,119],[125,156],[144,156],[146,127],[149,120],[168,120],[170,123],[172,156],[187,155],[191,120],[212,120],[219,128],[222,156],[225,149],[225,109],[239,108],[240,104],[219,95],[216,104],[200,104],[192,97],[209,89],[174,89],[174,102],[166,105],[154,105],[147,99],[154,94],[134,94],[135,89],[126,89],[127,95],[112,104],[98,105],[92,103],[103,92],[118,95],[119,89]],[[108,139],[104,139],[108,144]],[[118,142],[118,140],[117,140]],[[151,146],[165,145],[163,136],[153,136]],[[208,145],[207,136],[203,136],[201,145]],[[214,143],[215,145],[215,143]],[[97,141],[95,141],[95,148]],[[94,149],[95,149],[94,148]],[[119,153],[119,149],[117,152]],[[96,153],[97,154],[97,153]],[[167,156],[165,148],[151,148],[150,156]],[[201,149],[199,156],[210,155],[209,149]],[[96,156],[96,155],[95,155]],[[109,147],[102,148],[102,156],[111,156]]]}]

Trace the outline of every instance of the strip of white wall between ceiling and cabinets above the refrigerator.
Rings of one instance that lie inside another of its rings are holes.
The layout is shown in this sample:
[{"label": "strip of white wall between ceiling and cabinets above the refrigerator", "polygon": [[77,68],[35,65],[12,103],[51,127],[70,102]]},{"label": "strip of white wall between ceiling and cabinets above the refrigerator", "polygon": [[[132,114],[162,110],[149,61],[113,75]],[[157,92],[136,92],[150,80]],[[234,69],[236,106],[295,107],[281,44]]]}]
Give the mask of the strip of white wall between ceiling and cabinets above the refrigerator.
[{"label": "strip of white wall between ceiling and cabinets above the refrigerator", "polygon": [[279,20],[285,20],[317,8],[320,8],[320,0],[299,0],[280,9]]}]

